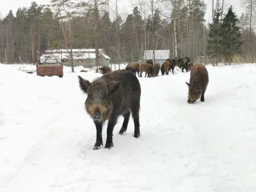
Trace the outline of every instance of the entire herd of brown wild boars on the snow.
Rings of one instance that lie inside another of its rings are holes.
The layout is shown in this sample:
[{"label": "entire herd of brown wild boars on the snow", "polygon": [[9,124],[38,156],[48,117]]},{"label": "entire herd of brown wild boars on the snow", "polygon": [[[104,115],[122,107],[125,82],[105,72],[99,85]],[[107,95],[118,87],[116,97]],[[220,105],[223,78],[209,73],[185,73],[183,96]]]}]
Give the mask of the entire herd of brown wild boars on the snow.
[{"label": "entire herd of brown wild boars on the snow", "polygon": [[[136,77],[142,77],[141,73],[145,72],[145,77],[158,76],[159,70],[161,74],[168,75],[173,73],[173,68],[178,66],[182,71],[190,70],[188,103],[192,104],[200,98],[201,102],[205,101],[204,94],[209,83],[207,69],[201,63],[191,63],[189,58],[172,59],[168,58],[160,66],[148,60],[147,63],[131,63],[124,70],[112,71],[109,67],[99,68],[103,76],[98,77],[90,82],[83,77],[79,78],[79,87],[87,94],[84,102],[86,112],[91,116],[96,127],[96,141],[93,150],[97,150],[103,145],[102,125],[108,120],[107,138],[105,148],[112,148],[113,145],[113,129],[116,125],[118,116],[124,116],[124,122],[118,134],[124,134],[127,131],[130,116],[132,115],[134,122],[134,138],[140,137],[140,99],[141,86],[140,81]],[[109,70],[110,69],[110,70]]]}]

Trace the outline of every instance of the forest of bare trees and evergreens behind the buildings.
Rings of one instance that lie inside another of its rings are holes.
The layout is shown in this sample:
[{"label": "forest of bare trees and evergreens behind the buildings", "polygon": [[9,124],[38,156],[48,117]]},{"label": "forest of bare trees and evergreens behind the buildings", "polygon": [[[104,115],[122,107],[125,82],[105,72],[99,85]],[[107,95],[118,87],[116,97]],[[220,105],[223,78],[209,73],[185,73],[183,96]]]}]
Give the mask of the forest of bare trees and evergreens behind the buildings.
[{"label": "forest of bare trees and evergreens behind the buildings", "polygon": [[[170,57],[202,63],[253,63],[256,55],[256,0],[243,0],[244,13],[212,1],[212,22],[205,22],[203,0],[145,0],[113,19],[108,0],[35,1],[0,20],[0,63],[35,63],[47,49],[105,49],[111,63],[143,60],[147,49],[170,49]],[[116,0],[116,4],[118,1]],[[159,2],[158,2],[159,4]],[[112,5],[111,5],[112,6]],[[98,61],[98,60],[97,60]]]}]

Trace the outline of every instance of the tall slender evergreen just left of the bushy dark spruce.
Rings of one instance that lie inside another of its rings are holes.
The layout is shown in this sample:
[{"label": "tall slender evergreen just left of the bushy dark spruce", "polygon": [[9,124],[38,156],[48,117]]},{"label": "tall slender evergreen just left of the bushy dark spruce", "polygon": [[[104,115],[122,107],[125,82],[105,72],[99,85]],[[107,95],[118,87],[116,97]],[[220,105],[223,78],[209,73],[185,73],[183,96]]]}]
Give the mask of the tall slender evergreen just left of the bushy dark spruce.
[{"label": "tall slender evergreen just left of the bushy dark spruce", "polygon": [[207,54],[212,57],[212,64],[214,63],[214,58],[216,58],[216,63],[218,63],[218,57],[221,52],[221,12],[220,1],[217,1],[212,23],[209,24],[209,39],[207,41]]}]

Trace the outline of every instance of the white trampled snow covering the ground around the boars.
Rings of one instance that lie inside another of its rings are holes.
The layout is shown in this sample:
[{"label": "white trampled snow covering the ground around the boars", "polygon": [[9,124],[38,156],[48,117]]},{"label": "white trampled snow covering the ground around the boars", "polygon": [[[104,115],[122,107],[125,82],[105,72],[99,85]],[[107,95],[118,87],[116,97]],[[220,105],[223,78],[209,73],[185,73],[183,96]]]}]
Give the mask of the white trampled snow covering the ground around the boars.
[{"label": "white trampled snow covering the ground around the boars", "polygon": [[111,150],[92,150],[77,79],[101,74],[65,67],[63,78],[39,77],[19,67],[0,65],[0,191],[256,190],[256,64],[207,66],[205,102],[195,104],[189,73],[140,77],[141,137],[132,118],[118,135],[120,117]]}]

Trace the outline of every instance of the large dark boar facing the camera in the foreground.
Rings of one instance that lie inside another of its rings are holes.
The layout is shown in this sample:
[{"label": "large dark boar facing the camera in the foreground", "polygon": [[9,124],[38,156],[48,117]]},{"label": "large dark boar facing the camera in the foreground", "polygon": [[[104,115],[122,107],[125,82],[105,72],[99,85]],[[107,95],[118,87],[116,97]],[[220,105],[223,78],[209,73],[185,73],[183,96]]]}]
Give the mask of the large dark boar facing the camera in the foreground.
[{"label": "large dark boar facing the camera in the foreground", "polygon": [[113,129],[118,116],[124,116],[124,122],[118,134],[127,130],[132,113],[134,138],[140,137],[140,96],[141,86],[138,78],[129,70],[115,70],[101,76],[92,83],[79,77],[79,86],[87,93],[85,108],[96,127],[96,143],[93,150],[103,145],[102,125],[108,120],[105,148],[113,147]]}]

